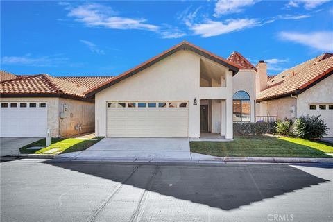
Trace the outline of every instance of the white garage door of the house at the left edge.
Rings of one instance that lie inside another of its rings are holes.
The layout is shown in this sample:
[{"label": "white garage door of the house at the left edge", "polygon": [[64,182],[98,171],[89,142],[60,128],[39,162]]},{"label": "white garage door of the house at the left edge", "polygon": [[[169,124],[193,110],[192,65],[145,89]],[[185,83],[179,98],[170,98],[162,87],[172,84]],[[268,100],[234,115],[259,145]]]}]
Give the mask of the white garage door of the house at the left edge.
[{"label": "white garage door of the house at the left edge", "polygon": [[46,137],[45,102],[1,102],[0,137]]}]

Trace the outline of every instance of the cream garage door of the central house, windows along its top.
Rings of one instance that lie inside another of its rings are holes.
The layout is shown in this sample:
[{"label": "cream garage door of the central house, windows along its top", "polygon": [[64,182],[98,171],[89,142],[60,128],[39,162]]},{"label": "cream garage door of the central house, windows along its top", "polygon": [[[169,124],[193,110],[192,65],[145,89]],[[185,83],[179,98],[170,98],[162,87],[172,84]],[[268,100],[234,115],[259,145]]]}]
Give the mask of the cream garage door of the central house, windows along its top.
[{"label": "cream garage door of the central house, windows along its top", "polygon": [[108,102],[108,137],[187,137],[187,102]]}]

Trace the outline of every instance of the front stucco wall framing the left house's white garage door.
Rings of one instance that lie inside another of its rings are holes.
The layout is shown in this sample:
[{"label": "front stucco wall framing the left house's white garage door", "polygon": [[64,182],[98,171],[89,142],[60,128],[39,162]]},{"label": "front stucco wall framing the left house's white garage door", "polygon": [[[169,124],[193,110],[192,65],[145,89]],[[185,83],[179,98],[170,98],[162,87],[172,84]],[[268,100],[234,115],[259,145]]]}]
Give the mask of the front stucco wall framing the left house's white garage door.
[{"label": "front stucco wall framing the left house's white garage door", "polygon": [[5,101],[40,101],[47,103],[47,127],[52,128],[52,136],[57,137],[58,128],[58,98],[50,97],[29,97],[29,98],[0,98],[1,102]]}]

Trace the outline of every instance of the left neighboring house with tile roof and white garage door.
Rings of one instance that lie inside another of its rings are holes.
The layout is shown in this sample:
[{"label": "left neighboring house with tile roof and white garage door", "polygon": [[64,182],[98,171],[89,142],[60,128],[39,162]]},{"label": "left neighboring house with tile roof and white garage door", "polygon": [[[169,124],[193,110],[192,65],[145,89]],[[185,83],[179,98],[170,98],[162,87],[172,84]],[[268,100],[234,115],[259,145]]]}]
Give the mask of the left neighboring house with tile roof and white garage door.
[{"label": "left neighboring house with tile roof and white garage door", "polygon": [[1,71],[0,137],[69,136],[94,131],[94,99],[83,92],[112,77],[15,76]]}]

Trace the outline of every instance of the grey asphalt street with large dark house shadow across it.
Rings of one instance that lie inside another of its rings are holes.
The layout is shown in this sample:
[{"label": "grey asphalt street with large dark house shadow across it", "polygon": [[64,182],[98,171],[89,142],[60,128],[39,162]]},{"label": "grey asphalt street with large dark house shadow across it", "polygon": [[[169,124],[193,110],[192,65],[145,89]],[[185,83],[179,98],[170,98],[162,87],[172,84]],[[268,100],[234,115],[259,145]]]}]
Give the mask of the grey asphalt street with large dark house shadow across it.
[{"label": "grey asphalt street with large dark house shadow across it", "polygon": [[1,221],[333,221],[333,166],[1,162]]}]

